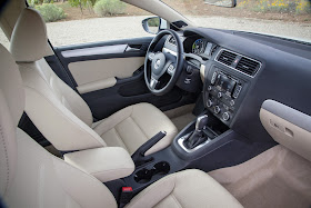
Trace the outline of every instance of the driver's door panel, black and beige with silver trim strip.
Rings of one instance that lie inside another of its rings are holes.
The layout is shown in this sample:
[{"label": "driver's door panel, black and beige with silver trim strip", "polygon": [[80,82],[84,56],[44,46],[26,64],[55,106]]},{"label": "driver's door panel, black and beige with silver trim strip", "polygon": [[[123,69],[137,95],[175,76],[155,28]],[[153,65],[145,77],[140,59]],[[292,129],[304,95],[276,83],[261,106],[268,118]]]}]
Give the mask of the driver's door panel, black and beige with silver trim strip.
[{"label": "driver's door panel, black and beige with silver trim strip", "polygon": [[139,102],[168,110],[195,101],[198,95],[179,88],[161,97],[150,93],[144,83],[143,61],[151,40],[139,38],[54,49],[67,77],[96,120]]}]

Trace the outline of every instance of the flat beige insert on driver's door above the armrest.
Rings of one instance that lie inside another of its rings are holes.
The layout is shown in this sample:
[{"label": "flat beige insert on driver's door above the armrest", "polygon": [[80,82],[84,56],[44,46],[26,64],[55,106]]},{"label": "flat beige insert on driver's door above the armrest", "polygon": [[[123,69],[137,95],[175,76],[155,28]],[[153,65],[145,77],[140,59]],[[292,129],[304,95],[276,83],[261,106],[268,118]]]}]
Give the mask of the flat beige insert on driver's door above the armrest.
[{"label": "flat beige insert on driver's door above the armrest", "polygon": [[[129,78],[143,62],[144,57],[116,58],[72,62],[68,68],[80,87],[111,78]],[[98,85],[94,86],[97,89]]]}]

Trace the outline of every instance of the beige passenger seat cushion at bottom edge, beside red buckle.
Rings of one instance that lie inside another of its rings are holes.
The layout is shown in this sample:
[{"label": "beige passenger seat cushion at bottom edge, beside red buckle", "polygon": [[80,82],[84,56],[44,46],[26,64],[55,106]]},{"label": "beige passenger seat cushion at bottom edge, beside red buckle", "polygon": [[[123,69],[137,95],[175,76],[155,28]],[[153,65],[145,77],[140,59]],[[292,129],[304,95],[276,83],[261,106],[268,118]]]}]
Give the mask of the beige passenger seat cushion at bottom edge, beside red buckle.
[{"label": "beige passenger seat cushion at bottom edge, beside red buckle", "polygon": [[201,170],[184,170],[158,180],[126,208],[242,207],[221,185]]}]

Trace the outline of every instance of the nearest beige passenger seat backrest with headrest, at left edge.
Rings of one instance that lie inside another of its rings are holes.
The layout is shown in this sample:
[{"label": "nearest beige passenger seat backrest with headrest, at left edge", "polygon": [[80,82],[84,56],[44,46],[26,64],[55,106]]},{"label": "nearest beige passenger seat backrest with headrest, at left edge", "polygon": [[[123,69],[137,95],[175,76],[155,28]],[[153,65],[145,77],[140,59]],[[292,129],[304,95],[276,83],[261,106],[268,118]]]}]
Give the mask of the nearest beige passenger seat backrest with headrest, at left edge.
[{"label": "nearest beige passenger seat backrest with headrest, at left edge", "polygon": [[108,188],[71,167],[17,128],[24,108],[22,80],[0,46],[0,196],[9,207],[117,207]]}]

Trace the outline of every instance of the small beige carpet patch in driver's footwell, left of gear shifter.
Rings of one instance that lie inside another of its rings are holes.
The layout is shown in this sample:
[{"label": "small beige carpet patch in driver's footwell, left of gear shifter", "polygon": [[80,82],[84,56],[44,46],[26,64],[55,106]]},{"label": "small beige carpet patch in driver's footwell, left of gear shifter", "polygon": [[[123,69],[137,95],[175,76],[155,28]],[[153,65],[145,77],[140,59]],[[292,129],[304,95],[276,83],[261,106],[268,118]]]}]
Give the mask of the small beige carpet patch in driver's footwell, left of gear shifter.
[{"label": "small beige carpet patch in driver's footwell, left of gear shifter", "polygon": [[174,126],[178,128],[178,131],[182,130],[188,123],[195,119],[195,116],[192,115],[194,105],[182,106],[164,113],[171,119]]}]

